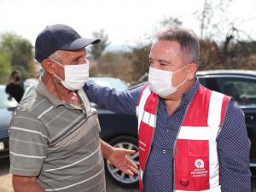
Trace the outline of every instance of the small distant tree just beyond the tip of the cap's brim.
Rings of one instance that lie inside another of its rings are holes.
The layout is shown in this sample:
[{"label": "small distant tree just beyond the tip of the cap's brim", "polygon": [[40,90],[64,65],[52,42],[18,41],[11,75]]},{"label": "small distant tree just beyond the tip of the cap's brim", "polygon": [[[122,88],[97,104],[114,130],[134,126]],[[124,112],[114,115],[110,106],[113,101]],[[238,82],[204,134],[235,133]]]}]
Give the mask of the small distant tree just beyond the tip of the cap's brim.
[{"label": "small distant tree just beyond the tip of the cap's brim", "polygon": [[94,60],[98,59],[104,50],[108,47],[110,42],[108,42],[108,34],[105,34],[104,29],[101,29],[98,32],[92,32],[94,38],[101,39],[101,43],[94,44],[90,47],[89,53],[93,57]]}]

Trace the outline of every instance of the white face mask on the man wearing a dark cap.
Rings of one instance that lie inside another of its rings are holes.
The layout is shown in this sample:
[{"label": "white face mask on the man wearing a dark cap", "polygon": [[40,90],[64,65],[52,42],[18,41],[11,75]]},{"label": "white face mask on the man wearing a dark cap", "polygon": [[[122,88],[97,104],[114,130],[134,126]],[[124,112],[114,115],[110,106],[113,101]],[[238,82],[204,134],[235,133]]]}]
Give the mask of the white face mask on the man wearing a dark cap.
[{"label": "white face mask on the man wearing a dark cap", "polygon": [[[55,61],[49,58],[52,61]],[[86,59],[85,59],[86,60]],[[61,80],[61,84],[67,88],[67,90],[79,90],[85,82],[89,79],[89,61],[86,60],[84,64],[79,65],[61,65],[58,61],[55,63],[64,67],[65,80],[62,80],[57,75],[55,77]]]}]

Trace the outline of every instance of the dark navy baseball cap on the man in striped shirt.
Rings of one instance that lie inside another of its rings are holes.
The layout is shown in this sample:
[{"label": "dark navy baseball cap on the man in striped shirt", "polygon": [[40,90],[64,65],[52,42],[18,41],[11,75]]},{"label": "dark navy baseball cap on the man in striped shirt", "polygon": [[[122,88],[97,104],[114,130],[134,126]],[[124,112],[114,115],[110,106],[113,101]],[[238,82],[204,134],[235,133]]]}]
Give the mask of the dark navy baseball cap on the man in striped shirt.
[{"label": "dark navy baseball cap on the man in striped shirt", "polygon": [[46,26],[36,39],[35,58],[38,62],[42,62],[56,50],[82,49],[100,41],[96,38],[82,38],[72,27],[63,24]]}]

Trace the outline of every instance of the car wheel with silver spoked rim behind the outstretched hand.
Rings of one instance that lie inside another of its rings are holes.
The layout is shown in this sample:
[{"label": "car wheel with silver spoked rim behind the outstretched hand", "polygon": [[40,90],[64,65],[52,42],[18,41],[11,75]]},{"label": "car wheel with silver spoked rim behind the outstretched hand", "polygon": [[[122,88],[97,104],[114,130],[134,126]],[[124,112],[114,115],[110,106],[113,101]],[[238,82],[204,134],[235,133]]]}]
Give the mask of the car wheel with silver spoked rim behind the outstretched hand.
[{"label": "car wheel with silver spoked rim behind the outstretched hand", "polygon": [[[139,166],[139,153],[138,153],[138,147],[137,147],[137,138],[135,137],[129,137],[129,136],[119,136],[116,138],[113,138],[108,142],[113,147],[116,148],[126,148],[135,150],[135,154],[129,155],[129,158],[137,165]],[[135,174],[134,176],[129,176],[123,172],[121,172],[118,168],[113,166],[108,160],[105,161],[106,165],[106,172],[107,174],[113,179],[114,183],[118,183],[121,186],[124,187],[134,187],[138,185],[138,175]]]}]

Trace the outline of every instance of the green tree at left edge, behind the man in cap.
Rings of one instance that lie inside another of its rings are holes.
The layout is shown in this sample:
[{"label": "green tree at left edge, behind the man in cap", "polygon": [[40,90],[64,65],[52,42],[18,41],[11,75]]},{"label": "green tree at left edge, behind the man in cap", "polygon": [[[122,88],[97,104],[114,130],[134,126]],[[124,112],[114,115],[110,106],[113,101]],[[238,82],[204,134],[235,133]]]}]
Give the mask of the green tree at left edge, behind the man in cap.
[{"label": "green tree at left edge, behind the man in cap", "polygon": [[25,79],[34,77],[33,47],[27,39],[15,33],[3,33],[0,37],[0,50],[3,57],[9,55],[9,65],[12,70],[19,69]]}]

